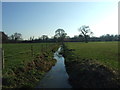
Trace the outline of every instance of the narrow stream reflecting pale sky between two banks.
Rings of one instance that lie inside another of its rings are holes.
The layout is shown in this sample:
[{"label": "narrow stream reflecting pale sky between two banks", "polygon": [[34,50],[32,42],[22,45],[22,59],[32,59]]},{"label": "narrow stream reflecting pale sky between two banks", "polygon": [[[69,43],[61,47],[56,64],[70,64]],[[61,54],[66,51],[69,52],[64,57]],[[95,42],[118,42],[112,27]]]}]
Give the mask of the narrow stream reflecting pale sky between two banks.
[{"label": "narrow stream reflecting pale sky between two banks", "polygon": [[55,66],[40,81],[37,88],[72,88],[68,83],[68,74],[65,69],[64,57],[60,55],[61,47],[54,53],[57,60]]}]

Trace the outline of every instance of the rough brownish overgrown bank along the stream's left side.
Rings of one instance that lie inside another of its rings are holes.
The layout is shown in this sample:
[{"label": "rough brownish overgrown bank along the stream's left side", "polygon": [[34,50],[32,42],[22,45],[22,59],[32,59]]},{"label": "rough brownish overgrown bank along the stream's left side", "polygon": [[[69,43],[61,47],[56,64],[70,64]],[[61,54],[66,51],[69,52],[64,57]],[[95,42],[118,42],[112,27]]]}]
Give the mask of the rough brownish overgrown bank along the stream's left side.
[{"label": "rough brownish overgrown bank along the stream's left side", "polygon": [[52,46],[45,49],[40,55],[36,55],[30,62],[23,63],[17,68],[10,68],[3,75],[2,88],[34,88],[45,73],[55,65],[56,60],[53,59],[53,53],[57,48],[57,45]]}]

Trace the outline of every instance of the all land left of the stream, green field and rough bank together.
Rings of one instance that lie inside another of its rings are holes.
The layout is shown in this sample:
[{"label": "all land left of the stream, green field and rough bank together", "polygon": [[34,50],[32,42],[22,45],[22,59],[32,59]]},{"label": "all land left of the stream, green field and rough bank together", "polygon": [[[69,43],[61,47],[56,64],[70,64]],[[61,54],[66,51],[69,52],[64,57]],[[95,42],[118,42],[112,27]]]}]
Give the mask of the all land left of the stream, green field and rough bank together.
[{"label": "all land left of the stream, green field and rough bank together", "polygon": [[3,44],[3,88],[33,88],[56,62],[54,43]]}]

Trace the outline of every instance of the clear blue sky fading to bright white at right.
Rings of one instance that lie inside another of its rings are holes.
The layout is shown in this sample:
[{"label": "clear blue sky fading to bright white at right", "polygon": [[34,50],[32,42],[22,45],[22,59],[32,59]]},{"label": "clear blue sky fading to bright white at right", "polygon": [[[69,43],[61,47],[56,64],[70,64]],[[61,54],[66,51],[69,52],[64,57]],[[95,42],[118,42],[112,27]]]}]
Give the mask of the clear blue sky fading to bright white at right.
[{"label": "clear blue sky fading to bright white at right", "polygon": [[62,28],[68,36],[79,35],[78,28],[89,25],[94,36],[118,33],[117,2],[3,2],[2,29],[24,39],[54,36]]}]

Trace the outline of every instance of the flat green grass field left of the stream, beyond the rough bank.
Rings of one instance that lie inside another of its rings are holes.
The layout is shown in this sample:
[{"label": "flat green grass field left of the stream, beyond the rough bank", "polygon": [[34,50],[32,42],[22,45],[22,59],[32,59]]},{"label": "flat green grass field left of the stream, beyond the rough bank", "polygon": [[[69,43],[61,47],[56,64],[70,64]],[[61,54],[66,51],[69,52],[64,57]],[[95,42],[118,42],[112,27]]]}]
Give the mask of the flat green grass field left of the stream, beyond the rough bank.
[{"label": "flat green grass field left of the stream, beyond the rough bank", "polygon": [[53,43],[3,44],[5,69],[32,60],[34,57],[32,56],[31,46],[36,56],[42,53],[42,48],[47,50],[49,45],[53,45]]}]

